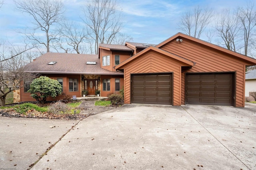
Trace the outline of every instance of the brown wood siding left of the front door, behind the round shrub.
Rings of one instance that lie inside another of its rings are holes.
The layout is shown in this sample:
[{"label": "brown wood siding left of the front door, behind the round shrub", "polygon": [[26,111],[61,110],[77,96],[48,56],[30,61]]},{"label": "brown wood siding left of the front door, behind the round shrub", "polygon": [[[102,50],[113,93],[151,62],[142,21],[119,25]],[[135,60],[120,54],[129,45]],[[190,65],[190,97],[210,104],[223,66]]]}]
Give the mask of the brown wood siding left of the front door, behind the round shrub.
[{"label": "brown wood siding left of the front door, behind the round shrub", "polygon": [[[69,95],[69,96],[73,96],[76,95],[76,97],[81,97],[81,76],[80,75],[63,75],[63,74],[49,74],[49,75],[42,75],[42,76],[47,76],[51,79],[57,79],[57,78],[63,78],[63,92],[61,95],[58,95],[56,98],[52,98],[52,97],[47,97],[47,101],[57,101],[60,99],[63,99],[64,96]],[[69,78],[73,78],[73,79],[78,79],[78,91],[69,91],[69,87],[68,87],[68,79]],[[20,101],[22,102],[26,102],[26,101],[36,101],[35,99],[33,99],[30,95],[30,93],[28,92],[24,92],[24,87],[23,87],[23,82],[21,83],[22,88],[20,89]]]}]

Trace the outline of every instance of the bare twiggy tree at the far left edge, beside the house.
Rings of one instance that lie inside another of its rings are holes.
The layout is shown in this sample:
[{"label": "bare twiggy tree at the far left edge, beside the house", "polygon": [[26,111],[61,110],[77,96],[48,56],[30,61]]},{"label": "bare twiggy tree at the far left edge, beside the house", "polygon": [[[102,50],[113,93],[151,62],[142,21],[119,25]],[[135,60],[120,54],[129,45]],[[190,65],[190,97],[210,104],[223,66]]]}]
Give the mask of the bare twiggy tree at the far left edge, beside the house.
[{"label": "bare twiggy tree at the far left edge, beside the house", "polygon": [[0,103],[5,106],[6,96],[21,88],[20,82],[32,79],[34,75],[25,71],[27,64],[22,54],[24,49],[11,49],[7,45],[1,46],[0,52]]}]

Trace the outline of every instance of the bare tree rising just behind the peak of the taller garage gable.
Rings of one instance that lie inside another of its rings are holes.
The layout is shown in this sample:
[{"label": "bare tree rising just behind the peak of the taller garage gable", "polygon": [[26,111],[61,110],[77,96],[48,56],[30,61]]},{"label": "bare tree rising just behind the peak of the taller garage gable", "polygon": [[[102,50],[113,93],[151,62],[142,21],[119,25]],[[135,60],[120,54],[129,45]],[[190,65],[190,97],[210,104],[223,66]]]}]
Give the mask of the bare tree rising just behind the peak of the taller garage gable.
[{"label": "bare tree rising just behind the peak of the taller garage gable", "polygon": [[211,21],[213,16],[212,8],[200,8],[197,6],[194,10],[184,13],[181,17],[178,28],[185,34],[200,38],[202,32]]}]

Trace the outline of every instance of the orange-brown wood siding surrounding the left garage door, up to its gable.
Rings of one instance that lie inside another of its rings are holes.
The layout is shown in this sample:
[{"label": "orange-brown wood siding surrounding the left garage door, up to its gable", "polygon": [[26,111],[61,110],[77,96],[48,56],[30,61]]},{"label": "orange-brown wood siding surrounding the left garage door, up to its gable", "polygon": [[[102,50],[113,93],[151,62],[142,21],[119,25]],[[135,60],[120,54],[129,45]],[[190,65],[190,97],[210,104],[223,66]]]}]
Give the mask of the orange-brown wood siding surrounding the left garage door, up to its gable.
[{"label": "orange-brown wood siding surrounding the left garage door, up to its gable", "polygon": [[130,74],[131,73],[164,73],[173,72],[173,105],[181,105],[181,65],[186,65],[176,59],[172,59],[161,53],[150,51],[130,61],[124,66],[124,89],[126,104],[131,103],[130,99]]}]

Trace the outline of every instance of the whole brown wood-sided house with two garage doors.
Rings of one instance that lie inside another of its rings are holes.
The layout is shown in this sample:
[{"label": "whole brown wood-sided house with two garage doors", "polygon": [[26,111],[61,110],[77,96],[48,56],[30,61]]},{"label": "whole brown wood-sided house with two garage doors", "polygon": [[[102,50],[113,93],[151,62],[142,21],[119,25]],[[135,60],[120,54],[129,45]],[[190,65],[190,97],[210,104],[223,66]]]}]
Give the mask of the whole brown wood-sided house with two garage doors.
[{"label": "whole brown wood-sided house with two garage doors", "polygon": [[[46,53],[27,71],[56,79],[64,95],[101,96],[124,88],[124,103],[231,105],[244,107],[245,68],[256,59],[178,33],[158,45],[99,44],[98,55]],[[34,101],[29,82],[17,101]]]}]

